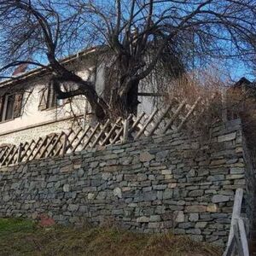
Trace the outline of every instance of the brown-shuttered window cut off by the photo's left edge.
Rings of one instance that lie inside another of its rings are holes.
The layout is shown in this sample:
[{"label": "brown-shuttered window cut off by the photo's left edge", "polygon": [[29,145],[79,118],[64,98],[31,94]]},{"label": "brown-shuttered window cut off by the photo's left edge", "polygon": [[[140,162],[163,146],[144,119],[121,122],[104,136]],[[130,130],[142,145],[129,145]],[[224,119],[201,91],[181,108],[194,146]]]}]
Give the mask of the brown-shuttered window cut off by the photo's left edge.
[{"label": "brown-shuttered window cut off by the photo's left edge", "polygon": [[21,115],[23,93],[0,97],[0,121],[15,119]]}]

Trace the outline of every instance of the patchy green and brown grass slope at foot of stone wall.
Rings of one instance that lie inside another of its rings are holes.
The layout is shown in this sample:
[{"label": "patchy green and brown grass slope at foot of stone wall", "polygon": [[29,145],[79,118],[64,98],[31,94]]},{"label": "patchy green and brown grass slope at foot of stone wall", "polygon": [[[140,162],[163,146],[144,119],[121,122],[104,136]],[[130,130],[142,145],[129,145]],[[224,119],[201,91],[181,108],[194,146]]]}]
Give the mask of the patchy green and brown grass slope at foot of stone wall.
[{"label": "patchy green and brown grass slope at foot of stone wall", "polygon": [[0,255],[221,255],[182,236],[143,235],[117,228],[38,228],[29,220],[0,218]]}]

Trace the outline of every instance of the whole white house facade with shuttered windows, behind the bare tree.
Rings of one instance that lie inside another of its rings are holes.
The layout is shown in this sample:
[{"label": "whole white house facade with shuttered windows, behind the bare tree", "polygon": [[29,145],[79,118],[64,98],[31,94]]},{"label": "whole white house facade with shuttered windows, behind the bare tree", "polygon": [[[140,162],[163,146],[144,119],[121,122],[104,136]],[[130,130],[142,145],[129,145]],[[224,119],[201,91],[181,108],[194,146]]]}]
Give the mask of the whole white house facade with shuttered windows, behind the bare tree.
[{"label": "whole white house facade with shuttered windows, behind the bare tree", "polygon": [[[84,80],[94,79],[96,91],[104,89],[105,68],[95,68],[90,61],[93,52],[84,51],[63,60]],[[151,113],[153,96],[139,96],[138,112]],[[0,83],[0,144],[18,144],[50,133],[84,128],[91,118],[85,96],[58,100],[49,85],[49,73],[38,68],[18,74]]]}]

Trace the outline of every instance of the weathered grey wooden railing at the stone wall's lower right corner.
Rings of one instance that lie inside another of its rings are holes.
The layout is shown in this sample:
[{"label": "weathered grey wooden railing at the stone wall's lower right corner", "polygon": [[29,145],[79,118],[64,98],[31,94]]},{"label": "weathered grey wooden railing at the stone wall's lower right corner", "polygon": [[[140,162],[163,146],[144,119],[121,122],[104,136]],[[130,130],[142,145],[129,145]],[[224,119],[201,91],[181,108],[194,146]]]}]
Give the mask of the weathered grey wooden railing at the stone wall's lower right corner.
[{"label": "weathered grey wooden railing at the stone wall's lower right corner", "polygon": [[227,243],[227,248],[223,256],[249,256],[247,233],[243,218],[241,218],[241,201],[243,197],[243,189],[236,189],[234,201],[230,236]]}]

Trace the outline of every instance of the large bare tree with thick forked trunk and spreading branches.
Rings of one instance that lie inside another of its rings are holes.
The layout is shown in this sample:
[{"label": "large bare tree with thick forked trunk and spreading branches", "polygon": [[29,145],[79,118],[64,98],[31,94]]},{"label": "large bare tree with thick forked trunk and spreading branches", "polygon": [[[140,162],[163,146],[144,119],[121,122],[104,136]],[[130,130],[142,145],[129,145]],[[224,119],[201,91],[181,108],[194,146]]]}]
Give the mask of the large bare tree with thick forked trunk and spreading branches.
[{"label": "large bare tree with thick forked trunk and spreading branches", "polygon": [[[126,116],[136,112],[138,84],[154,73],[177,78],[214,58],[253,63],[255,18],[254,0],[3,0],[2,77],[22,63],[43,67],[59,98],[86,96],[98,119]],[[60,61],[89,46],[110,66],[108,96]],[[67,82],[73,89],[61,90]]]}]

